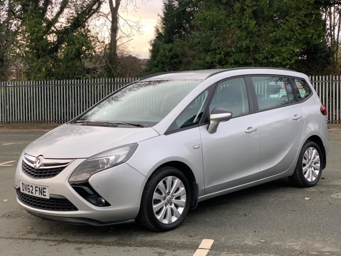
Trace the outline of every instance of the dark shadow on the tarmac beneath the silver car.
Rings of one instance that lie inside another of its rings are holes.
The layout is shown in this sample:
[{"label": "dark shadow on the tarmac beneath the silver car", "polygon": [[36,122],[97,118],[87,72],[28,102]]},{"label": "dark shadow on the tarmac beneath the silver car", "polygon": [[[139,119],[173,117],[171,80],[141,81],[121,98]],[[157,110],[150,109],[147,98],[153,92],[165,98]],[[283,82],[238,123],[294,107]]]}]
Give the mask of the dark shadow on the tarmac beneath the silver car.
[{"label": "dark shadow on the tarmac beneath the silver car", "polygon": [[[294,187],[288,178],[282,178],[251,188],[217,196],[200,202],[195,210],[191,210],[189,212],[185,223],[187,222],[189,225],[191,225],[193,223],[202,221],[200,219],[215,218],[215,215],[219,215],[222,210],[226,212],[232,211],[232,209],[235,208],[243,209],[251,202],[254,203],[255,201],[268,200],[269,197],[280,197],[283,193],[295,194],[297,193],[297,190],[301,189],[302,188]],[[52,223],[55,223],[51,227],[54,229],[55,233],[63,233],[63,230],[70,230],[70,228],[72,228],[72,233],[77,232],[82,235],[91,234],[91,236],[97,236],[99,239],[114,236],[120,237],[129,233],[137,236],[143,236],[146,234],[153,235],[153,233],[155,233],[154,231],[145,229],[137,223],[116,224],[111,226],[71,225],[68,223],[58,222]],[[182,226],[183,225],[181,225],[179,228],[181,229]]]}]

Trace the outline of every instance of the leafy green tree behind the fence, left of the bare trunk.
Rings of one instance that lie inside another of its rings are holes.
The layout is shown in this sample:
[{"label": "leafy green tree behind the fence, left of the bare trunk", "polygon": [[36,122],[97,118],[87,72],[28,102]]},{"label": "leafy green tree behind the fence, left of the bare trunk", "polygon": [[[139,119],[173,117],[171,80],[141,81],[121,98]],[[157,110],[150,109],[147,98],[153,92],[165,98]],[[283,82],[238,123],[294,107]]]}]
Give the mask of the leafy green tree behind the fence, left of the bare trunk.
[{"label": "leafy green tree behind the fence, left of the bare trunk", "polygon": [[91,74],[92,43],[86,22],[102,0],[28,1],[17,4],[21,60],[29,80],[84,78]]}]

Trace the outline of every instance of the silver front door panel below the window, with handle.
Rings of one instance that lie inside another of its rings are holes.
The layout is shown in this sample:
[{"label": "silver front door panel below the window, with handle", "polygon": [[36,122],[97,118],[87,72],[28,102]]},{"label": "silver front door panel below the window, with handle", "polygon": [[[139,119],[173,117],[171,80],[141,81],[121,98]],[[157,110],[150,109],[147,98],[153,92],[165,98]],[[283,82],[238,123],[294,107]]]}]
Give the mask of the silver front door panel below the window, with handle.
[{"label": "silver front door panel below the window, with handle", "polygon": [[[248,127],[255,131],[246,133]],[[205,171],[205,194],[252,182],[259,172],[260,133],[255,116],[246,115],[221,122],[209,134],[200,127]]]}]

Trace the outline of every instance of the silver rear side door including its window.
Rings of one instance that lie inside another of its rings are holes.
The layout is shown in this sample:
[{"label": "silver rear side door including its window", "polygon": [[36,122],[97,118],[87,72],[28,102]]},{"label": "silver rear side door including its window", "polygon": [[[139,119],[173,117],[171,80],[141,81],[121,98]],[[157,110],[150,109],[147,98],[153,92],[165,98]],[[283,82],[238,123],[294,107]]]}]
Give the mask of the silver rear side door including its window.
[{"label": "silver rear side door including its window", "polygon": [[266,178],[295,164],[293,160],[299,151],[305,112],[297,102],[289,78],[252,76],[248,79],[255,89],[258,104],[255,116],[260,133],[259,178]]}]

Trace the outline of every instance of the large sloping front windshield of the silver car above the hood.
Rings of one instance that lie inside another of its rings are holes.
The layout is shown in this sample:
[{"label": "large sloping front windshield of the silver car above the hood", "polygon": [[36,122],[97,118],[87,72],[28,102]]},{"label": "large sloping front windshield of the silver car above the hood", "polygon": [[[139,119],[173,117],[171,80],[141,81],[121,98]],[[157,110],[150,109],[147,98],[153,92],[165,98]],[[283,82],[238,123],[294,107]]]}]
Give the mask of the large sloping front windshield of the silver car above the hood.
[{"label": "large sloping front windshield of the silver car above the hood", "polygon": [[199,80],[136,82],[112,94],[74,123],[152,126],[200,83]]}]

